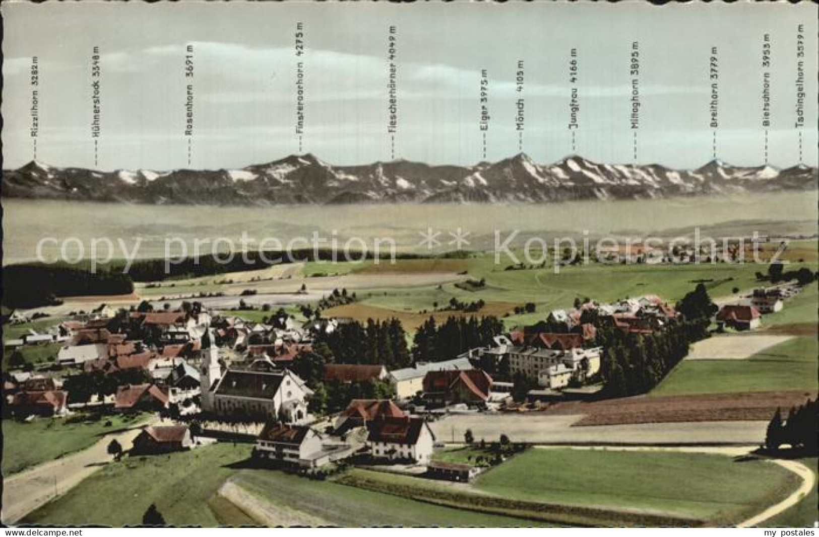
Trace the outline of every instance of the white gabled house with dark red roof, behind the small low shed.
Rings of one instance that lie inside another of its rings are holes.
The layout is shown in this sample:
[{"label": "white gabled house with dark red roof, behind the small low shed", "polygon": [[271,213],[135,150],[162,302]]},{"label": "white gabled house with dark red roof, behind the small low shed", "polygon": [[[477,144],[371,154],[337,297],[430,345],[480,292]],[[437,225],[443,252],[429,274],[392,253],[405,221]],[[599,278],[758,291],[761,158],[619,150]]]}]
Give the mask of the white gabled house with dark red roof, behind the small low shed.
[{"label": "white gabled house with dark red roof, behind the small low shed", "polygon": [[367,425],[374,459],[428,463],[435,436],[422,418],[379,418]]}]

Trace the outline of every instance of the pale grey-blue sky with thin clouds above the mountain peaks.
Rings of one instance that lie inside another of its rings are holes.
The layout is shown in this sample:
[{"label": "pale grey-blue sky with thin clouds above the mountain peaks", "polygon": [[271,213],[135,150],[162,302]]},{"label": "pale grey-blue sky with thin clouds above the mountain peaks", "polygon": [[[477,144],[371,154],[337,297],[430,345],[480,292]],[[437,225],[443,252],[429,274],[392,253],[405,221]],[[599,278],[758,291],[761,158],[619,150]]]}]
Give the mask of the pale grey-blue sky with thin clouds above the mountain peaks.
[{"label": "pale grey-blue sky with thin clouds above the mountain peaks", "polygon": [[195,168],[239,168],[296,153],[296,21],[305,25],[305,151],[329,163],[390,159],[387,28],[397,27],[396,156],[482,159],[481,69],[489,74],[487,159],[518,152],[514,74],[525,64],[523,150],[550,163],[572,152],[569,50],[579,54],[577,153],[632,161],[629,54],[639,40],[641,163],[712,159],[708,56],[718,47],[718,156],[764,160],[762,34],[771,35],[770,161],[799,163],[796,27],[805,25],[803,161],[817,164],[817,6],[642,3],[318,4],[7,3],[4,167],[32,159],[29,65],[40,67],[38,160],[93,167],[90,56],[102,51],[99,168],[183,168],[184,47],[195,47]]}]

